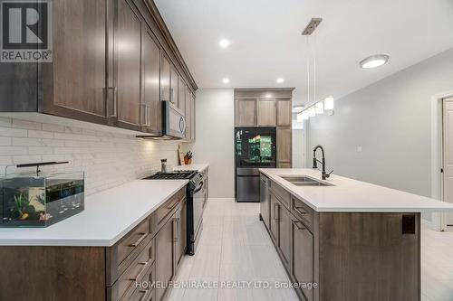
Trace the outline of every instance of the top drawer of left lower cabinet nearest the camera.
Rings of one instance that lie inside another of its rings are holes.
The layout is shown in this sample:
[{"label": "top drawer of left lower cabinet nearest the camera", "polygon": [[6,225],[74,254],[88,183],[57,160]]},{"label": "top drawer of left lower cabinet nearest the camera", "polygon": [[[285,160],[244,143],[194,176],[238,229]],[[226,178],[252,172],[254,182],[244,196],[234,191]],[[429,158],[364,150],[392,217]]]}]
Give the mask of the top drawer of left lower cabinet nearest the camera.
[{"label": "top drawer of left lower cabinet nearest the camera", "polygon": [[151,240],[150,220],[147,218],[130,230],[116,245],[107,249],[107,286],[111,286],[124,273]]}]

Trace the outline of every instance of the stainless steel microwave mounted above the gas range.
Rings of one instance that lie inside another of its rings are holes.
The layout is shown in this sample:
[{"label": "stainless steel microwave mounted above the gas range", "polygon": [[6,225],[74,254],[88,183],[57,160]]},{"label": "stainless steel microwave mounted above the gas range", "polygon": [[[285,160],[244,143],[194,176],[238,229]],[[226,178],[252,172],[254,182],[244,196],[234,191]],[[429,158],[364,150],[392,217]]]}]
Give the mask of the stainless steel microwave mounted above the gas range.
[{"label": "stainless steel microwave mounted above the gas range", "polygon": [[137,136],[144,139],[175,140],[182,139],[186,133],[185,112],[169,101],[162,101],[162,135]]}]

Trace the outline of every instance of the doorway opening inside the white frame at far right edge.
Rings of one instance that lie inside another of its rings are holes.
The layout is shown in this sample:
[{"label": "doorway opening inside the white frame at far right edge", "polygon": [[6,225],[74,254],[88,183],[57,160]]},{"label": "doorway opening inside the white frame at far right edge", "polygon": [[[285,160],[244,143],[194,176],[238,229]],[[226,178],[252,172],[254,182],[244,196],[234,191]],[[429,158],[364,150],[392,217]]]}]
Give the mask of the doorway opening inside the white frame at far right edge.
[{"label": "doorway opening inside the white frame at far right edge", "polygon": [[[443,111],[443,200],[453,202],[453,97],[444,99]],[[445,214],[445,223],[453,226],[453,213]]]}]

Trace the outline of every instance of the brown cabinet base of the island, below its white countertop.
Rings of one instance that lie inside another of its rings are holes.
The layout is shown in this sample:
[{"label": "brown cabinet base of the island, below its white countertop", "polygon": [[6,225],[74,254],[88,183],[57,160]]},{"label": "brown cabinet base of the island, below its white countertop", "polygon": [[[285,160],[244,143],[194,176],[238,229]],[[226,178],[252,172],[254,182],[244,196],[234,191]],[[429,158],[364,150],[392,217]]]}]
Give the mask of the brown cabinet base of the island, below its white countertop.
[{"label": "brown cabinet base of the island, below its white countertop", "polygon": [[316,212],[269,187],[265,227],[301,300],[420,300],[419,213]]}]

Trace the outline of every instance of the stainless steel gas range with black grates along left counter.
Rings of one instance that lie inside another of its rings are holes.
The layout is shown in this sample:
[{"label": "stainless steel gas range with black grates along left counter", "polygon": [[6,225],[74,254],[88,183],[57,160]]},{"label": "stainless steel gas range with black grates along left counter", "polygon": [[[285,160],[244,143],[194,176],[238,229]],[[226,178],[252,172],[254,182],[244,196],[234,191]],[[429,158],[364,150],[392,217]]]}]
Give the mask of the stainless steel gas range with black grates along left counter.
[{"label": "stainless steel gas range with black grates along left counter", "polygon": [[187,186],[187,253],[189,255],[194,255],[197,249],[198,240],[203,230],[203,211],[205,210],[207,201],[206,174],[201,174],[197,171],[157,173],[145,178],[144,180],[189,180]]}]

